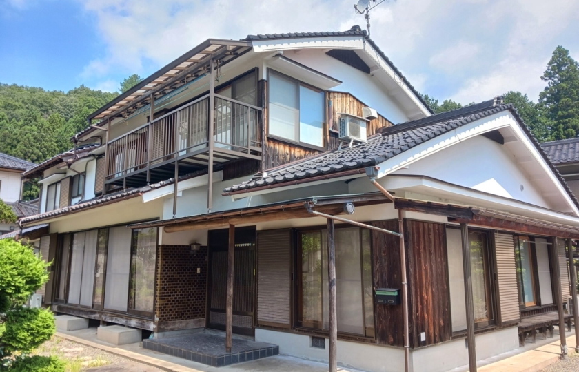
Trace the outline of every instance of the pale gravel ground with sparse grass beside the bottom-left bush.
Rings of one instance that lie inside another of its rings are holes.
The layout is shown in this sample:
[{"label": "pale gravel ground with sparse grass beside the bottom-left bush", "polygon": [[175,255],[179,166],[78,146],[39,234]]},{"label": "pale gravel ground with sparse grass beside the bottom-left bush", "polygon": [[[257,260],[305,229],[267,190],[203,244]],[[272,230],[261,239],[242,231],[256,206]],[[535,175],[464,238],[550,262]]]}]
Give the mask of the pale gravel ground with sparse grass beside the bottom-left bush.
[{"label": "pale gravel ground with sparse grass beside the bottom-left bush", "polygon": [[143,371],[143,372],[157,372],[161,371],[152,366],[133,362],[120,357],[119,355],[107,353],[101,349],[88,347],[77,344],[57,336],[52,337],[51,340],[42,344],[34,351],[37,355],[54,355],[67,363],[67,372],[80,371]]}]

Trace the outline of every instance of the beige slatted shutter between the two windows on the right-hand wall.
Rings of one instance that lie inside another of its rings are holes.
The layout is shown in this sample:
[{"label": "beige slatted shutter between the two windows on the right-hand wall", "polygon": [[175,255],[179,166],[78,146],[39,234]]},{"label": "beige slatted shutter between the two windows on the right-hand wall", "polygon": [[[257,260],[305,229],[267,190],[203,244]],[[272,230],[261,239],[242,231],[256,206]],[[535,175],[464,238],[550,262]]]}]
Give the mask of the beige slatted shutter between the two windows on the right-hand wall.
[{"label": "beige slatted shutter between the two windows on the right-hand wall", "polygon": [[520,320],[514,236],[494,234],[500,303],[500,321]]}]

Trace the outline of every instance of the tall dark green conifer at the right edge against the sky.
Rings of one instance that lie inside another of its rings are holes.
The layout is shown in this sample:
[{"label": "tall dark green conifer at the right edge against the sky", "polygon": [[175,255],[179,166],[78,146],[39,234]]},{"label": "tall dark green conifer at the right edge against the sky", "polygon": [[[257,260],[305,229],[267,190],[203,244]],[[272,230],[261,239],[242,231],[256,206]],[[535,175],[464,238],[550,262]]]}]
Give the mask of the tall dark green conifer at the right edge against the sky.
[{"label": "tall dark green conifer at the right edge against the sky", "polygon": [[551,138],[574,138],[579,132],[579,64],[569,50],[558,46],[547,64],[542,81],[547,82],[539,94],[539,103],[551,121]]}]

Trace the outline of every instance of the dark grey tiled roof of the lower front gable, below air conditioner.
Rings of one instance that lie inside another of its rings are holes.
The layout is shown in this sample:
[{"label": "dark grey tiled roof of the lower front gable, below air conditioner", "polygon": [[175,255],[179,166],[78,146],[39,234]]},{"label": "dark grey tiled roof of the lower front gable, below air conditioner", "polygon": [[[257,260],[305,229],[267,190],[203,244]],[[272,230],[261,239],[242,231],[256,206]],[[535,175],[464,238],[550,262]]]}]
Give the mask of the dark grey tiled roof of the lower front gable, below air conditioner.
[{"label": "dark grey tiled roof of the lower front gable, below air conditioner", "polygon": [[318,156],[305,158],[301,161],[278,167],[265,172],[260,178],[254,177],[252,180],[227,187],[223,190],[223,194],[241,194],[258,189],[271,189],[278,185],[296,185],[310,180],[363,173],[365,167],[382,163],[419,143],[440,136],[440,134],[454,130],[457,127],[477,121],[485,116],[505,110],[510,110],[519,123],[522,124],[523,130],[525,130],[531,142],[535,145],[542,157],[545,158],[545,161],[553,173],[556,174],[563,187],[565,187],[573,203],[579,207],[579,201],[573,195],[573,192],[571,192],[571,189],[562,178],[558,169],[553,165],[549,156],[545,154],[545,151],[543,151],[527,125],[523,123],[522,118],[520,118],[514,106],[510,103],[508,105],[502,104],[502,100],[500,99],[485,101],[458,110],[451,110],[449,112],[443,112],[442,114],[428,116],[427,118],[408,121],[392,127],[384,127],[381,129],[381,133],[371,136],[365,143],[360,143],[347,149],[335,149]]}]

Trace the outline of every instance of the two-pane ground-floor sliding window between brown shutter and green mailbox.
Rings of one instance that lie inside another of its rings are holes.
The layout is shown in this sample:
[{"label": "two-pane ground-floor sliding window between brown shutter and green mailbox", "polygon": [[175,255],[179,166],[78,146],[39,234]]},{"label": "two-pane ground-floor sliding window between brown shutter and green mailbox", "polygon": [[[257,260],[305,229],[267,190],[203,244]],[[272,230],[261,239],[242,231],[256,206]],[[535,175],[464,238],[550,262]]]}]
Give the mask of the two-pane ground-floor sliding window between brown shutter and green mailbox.
[{"label": "two-pane ground-floor sliding window between brown shutter and green mailbox", "polygon": [[[336,307],[338,331],[374,336],[374,296],[370,231],[336,228]],[[328,329],[327,233],[300,231],[298,270],[298,324]]]}]

